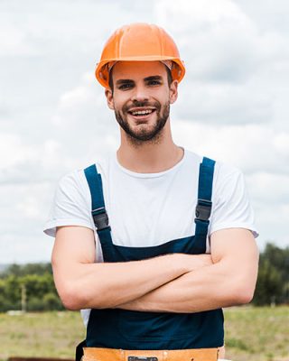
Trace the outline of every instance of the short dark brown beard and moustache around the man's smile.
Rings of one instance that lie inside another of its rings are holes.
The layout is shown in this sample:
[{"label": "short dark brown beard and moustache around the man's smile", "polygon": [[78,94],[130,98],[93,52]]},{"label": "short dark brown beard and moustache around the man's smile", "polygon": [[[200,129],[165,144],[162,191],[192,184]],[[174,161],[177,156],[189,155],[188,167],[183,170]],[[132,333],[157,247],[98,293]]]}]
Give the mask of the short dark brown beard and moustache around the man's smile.
[{"label": "short dark brown beard and moustache around the man's smile", "polygon": [[148,103],[148,102],[134,102],[134,106],[154,106],[156,113],[156,121],[151,127],[138,125],[138,129],[134,130],[127,121],[127,111],[131,106],[123,106],[121,111],[115,110],[115,115],[117,123],[122,127],[126,132],[126,137],[129,143],[132,145],[138,146],[144,143],[160,143],[163,127],[166,124],[168,117],[170,116],[170,102],[168,101],[163,106],[159,102]]}]

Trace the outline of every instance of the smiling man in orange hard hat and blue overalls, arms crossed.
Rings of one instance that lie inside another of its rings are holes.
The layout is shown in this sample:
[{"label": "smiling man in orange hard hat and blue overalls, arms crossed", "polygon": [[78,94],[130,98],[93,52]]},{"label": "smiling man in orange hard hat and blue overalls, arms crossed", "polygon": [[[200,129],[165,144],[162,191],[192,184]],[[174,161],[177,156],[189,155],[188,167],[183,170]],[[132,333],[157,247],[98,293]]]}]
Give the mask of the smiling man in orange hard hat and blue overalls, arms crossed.
[{"label": "smiling man in orange hard hat and blue overalls, arms crossed", "polygon": [[217,360],[221,308],[253,297],[242,174],[172,141],[184,72],[172,38],[145,23],[118,29],[98,63],[120,146],[62,178],[45,227],[61,300],[87,326],[84,360]]}]

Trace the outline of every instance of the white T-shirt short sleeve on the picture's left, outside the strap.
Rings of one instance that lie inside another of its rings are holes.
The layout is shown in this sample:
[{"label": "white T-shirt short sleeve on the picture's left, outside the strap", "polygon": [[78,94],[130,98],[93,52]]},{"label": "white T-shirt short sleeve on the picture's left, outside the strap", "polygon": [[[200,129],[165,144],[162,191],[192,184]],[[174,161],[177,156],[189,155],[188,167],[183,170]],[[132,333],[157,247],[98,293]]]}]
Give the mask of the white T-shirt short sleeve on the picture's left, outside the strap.
[{"label": "white T-shirt short sleeve on the picture's left, outside the strap", "polygon": [[81,226],[93,229],[91,200],[83,171],[73,171],[59,181],[43,232],[55,236],[56,227]]}]

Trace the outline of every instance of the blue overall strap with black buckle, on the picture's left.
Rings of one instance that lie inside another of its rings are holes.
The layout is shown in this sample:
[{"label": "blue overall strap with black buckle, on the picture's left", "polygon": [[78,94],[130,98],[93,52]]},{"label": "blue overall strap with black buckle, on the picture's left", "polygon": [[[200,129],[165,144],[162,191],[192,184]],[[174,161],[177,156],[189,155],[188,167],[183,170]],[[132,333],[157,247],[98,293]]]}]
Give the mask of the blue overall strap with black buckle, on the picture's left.
[{"label": "blue overall strap with black buckle, on the picture's left", "polygon": [[111,241],[110,227],[108,225],[107,210],[102,190],[101,175],[98,173],[96,164],[90,165],[84,170],[89,183],[91,194],[91,215],[97,228],[100,242]]}]

